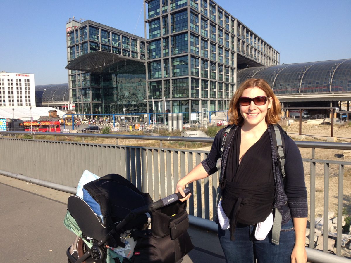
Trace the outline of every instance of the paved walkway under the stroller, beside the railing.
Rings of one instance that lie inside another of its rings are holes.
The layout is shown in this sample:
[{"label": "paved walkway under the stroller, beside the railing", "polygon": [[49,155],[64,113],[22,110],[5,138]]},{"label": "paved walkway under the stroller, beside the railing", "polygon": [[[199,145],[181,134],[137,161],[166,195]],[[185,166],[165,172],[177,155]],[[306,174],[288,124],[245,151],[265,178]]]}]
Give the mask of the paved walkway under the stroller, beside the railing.
[{"label": "paved walkway under the stroller, beside the railing", "polygon": [[[64,227],[70,194],[0,175],[1,262],[66,263],[75,235]],[[191,226],[184,263],[224,263],[217,234]]]}]

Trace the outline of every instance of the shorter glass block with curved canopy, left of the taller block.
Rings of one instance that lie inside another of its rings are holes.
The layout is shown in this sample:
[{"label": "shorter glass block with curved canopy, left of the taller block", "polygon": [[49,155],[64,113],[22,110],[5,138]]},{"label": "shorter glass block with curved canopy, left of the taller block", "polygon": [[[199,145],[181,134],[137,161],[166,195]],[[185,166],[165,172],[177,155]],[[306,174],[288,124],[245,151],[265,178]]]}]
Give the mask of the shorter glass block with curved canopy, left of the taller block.
[{"label": "shorter glass block with curved canopy, left of the taller block", "polygon": [[66,23],[70,102],[78,114],[146,112],[145,39],[100,23]]}]

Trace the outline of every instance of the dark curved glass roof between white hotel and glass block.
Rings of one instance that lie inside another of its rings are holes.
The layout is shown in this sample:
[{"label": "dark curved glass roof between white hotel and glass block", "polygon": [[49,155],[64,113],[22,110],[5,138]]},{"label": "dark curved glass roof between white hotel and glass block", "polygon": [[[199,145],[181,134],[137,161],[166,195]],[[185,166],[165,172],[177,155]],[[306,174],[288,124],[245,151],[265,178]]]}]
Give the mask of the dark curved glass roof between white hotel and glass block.
[{"label": "dark curved glass roof between white hotel and glass block", "polygon": [[68,83],[35,86],[35,101],[37,103],[69,101]]}]

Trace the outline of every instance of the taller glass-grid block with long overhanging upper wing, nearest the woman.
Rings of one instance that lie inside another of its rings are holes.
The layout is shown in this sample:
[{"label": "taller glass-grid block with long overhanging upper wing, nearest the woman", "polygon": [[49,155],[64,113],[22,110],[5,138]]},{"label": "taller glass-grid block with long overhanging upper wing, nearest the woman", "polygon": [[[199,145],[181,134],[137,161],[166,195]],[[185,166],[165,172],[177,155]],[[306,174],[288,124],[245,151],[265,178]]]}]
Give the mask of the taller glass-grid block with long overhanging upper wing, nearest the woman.
[{"label": "taller glass-grid block with long overhanging upper wing, nearest the woman", "polygon": [[144,0],[144,17],[148,112],[158,97],[185,121],[227,110],[237,69],[279,65],[275,49],[214,1]]}]

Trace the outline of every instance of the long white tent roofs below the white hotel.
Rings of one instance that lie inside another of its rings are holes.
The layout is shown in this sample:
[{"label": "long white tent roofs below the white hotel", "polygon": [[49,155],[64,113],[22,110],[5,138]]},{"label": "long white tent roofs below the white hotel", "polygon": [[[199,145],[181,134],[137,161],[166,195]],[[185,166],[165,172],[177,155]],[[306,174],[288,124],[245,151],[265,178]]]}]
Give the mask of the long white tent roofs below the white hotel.
[{"label": "long white tent roofs below the white hotel", "polygon": [[[63,118],[64,114],[66,114],[65,112],[62,112],[62,110],[58,110],[53,107],[32,107],[33,120],[39,119],[40,116],[48,116],[49,110],[57,110],[57,115],[60,116],[60,118]],[[6,119],[14,118],[14,119],[21,119],[24,121],[30,121],[31,109],[29,109],[29,106],[0,107],[0,118],[6,118]]]}]

